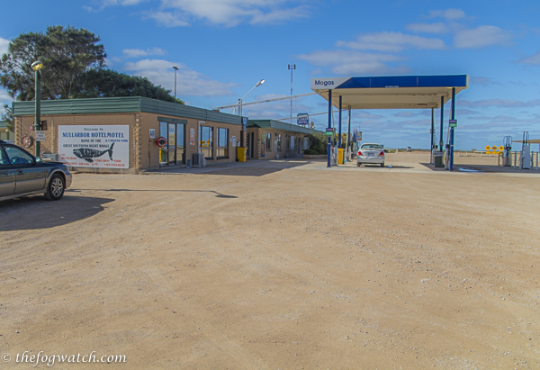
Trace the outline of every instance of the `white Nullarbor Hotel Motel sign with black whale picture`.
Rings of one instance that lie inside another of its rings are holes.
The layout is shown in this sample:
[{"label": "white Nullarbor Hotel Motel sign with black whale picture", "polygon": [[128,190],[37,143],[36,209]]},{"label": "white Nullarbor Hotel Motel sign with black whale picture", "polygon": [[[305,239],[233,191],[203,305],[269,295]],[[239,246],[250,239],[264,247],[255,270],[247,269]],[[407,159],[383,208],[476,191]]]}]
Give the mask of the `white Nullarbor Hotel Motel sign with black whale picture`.
[{"label": "white Nullarbor Hotel Motel sign with black whale picture", "polygon": [[129,168],[130,126],[58,126],[58,154],[67,166]]}]

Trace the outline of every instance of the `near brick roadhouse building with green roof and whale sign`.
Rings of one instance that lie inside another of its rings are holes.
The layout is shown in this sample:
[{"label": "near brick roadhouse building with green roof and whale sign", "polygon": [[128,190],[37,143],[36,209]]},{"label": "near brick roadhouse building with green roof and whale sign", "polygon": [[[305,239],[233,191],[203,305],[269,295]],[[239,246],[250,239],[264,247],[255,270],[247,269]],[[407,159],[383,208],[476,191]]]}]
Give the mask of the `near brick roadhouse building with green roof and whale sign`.
[{"label": "near brick roadhouse building with green roof and whale sign", "polygon": [[[14,141],[32,152],[35,103],[13,111]],[[40,117],[42,157],[85,172],[231,162],[246,142],[245,117],[139,96],[41,101]]]}]

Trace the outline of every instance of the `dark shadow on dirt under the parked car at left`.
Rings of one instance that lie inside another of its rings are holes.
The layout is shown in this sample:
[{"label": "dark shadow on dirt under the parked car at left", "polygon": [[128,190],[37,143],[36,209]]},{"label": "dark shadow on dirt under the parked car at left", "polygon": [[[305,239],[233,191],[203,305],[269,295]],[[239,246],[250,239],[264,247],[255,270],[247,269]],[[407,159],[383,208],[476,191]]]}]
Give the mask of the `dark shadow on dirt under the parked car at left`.
[{"label": "dark shadow on dirt under the parked car at left", "polygon": [[0,232],[14,230],[50,229],[85,220],[102,212],[114,199],[65,194],[58,202],[42,195],[0,202]]}]

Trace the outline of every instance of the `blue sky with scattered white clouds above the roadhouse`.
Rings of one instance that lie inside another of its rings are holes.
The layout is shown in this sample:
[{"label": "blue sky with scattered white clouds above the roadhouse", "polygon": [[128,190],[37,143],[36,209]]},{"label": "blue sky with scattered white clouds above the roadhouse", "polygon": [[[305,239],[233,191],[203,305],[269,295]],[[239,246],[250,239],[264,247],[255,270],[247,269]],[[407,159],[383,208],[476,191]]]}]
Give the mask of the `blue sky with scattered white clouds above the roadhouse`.
[{"label": "blue sky with scattered white clouds above the roadhouse", "polygon": [[[177,66],[176,95],[208,109],[234,104],[261,78],[246,103],[290,95],[292,62],[294,95],[310,93],[312,77],[467,74],[470,86],[457,95],[458,149],[500,145],[523,131],[540,139],[537,0],[28,0],[6,2],[3,14],[14,16],[0,23],[0,53],[23,32],[85,28],[101,37],[109,68],[173,90]],[[0,102],[10,101],[0,89]],[[327,109],[318,95],[293,100],[293,115]],[[447,127],[449,104],[445,111]],[[286,118],[290,101],[243,113]],[[365,141],[428,148],[430,115],[353,111],[352,122]],[[328,116],[311,121],[323,129]]]}]

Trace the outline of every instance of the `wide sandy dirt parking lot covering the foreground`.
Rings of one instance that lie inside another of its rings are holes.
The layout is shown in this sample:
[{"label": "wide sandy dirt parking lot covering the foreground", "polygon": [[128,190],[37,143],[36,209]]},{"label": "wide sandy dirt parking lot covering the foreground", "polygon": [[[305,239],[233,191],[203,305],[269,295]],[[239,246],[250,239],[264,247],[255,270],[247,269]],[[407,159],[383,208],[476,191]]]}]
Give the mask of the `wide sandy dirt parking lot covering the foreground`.
[{"label": "wide sandy dirt parking lot covering the foreground", "polygon": [[538,368],[540,171],[428,160],[77,174],[0,203],[2,366]]}]

